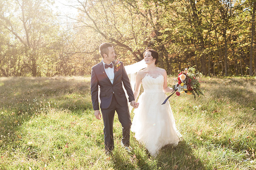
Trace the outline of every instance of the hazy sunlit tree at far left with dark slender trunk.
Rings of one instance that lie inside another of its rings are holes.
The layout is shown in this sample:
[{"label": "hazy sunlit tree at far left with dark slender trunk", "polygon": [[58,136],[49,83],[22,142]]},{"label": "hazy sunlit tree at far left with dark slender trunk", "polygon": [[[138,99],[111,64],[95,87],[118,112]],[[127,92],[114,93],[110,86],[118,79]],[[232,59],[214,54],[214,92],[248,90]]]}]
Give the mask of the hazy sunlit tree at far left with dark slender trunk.
[{"label": "hazy sunlit tree at far left with dark slender trunk", "polygon": [[51,32],[52,15],[47,0],[12,0],[0,14],[3,26],[19,40],[24,48],[23,68],[29,68],[37,76],[38,51],[47,42]]}]

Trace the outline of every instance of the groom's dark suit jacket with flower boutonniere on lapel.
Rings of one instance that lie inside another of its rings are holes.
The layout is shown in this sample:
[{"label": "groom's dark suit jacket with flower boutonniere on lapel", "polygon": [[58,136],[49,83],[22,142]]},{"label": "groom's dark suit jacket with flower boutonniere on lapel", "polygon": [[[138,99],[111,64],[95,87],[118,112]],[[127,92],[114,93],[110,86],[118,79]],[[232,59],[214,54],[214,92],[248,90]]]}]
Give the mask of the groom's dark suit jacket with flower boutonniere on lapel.
[{"label": "groom's dark suit jacket with flower boutonniere on lapel", "polygon": [[[100,86],[100,108],[109,108],[112,97],[115,95],[116,101],[121,105],[127,104],[126,94],[123,90],[123,86],[129,97],[129,102],[135,100],[133,90],[130,86],[130,80],[126,74],[123,63],[120,62],[120,68],[116,71],[114,68],[114,82],[113,84],[109,80],[102,62],[92,67],[91,74],[91,97],[93,110],[99,110],[98,88]],[[114,92],[114,93],[113,93]]]}]

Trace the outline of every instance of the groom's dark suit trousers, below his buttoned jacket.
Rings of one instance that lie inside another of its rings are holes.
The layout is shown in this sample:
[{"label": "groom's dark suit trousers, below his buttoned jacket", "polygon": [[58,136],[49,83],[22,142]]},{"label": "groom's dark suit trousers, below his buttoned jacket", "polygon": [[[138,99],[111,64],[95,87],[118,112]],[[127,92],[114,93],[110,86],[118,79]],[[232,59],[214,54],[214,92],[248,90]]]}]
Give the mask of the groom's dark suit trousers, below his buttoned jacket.
[{"label": "groom's dark suit trousers, below his buttoned jacket", "polygon": [[115,111],[123,128],[123,145],[130,145],[130,126],[132,125],[132,122],[130,119],[128,103],[125,106],[119,105],[116,101],[115,95],[113,94],[109,108],[101,109],[104,122],[104,143],[106,152],[114,149],[113,123]]}]

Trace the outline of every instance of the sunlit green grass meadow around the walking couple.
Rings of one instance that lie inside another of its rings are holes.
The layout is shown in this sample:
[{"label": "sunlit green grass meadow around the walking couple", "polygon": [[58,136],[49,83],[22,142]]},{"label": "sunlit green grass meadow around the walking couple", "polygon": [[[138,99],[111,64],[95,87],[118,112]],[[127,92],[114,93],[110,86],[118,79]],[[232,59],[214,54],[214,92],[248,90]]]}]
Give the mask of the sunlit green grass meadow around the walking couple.
[{"label": "sunlit green grass meadow around the walking couple", "polygon": [[0,169],[256,169],[256,78],[201,81],[204,96],[169,99],[183,135],[177,147],[166,146],[154,158],[131,133],[129,154],[120,145],[116,116],[109,158],[103,122],[92,110],[90,77],[0,78]]}]

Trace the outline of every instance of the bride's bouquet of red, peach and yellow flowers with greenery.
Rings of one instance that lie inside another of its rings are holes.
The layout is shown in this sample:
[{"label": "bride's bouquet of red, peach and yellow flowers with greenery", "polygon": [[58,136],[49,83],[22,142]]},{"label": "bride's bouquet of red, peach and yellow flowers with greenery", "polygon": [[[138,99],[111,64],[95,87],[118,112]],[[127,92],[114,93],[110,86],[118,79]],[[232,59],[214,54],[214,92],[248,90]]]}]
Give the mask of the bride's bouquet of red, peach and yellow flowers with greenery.
[{"label": "bride's bouquet of red, peach and yellow flowers with greenery", "polygon": [[193,67],[185,69],[185,71],[181,71],[180,74],[178,74],[176,81],[178,81],[178,83],[173,85],[173,90],[177,91],[177,96],[180,96],[180,93],[184,92],[188,95],[193,94],[194,98],[196,98],[196,94],[197,96],[204,95],[199,88],[200,84]]}]

